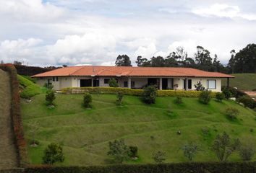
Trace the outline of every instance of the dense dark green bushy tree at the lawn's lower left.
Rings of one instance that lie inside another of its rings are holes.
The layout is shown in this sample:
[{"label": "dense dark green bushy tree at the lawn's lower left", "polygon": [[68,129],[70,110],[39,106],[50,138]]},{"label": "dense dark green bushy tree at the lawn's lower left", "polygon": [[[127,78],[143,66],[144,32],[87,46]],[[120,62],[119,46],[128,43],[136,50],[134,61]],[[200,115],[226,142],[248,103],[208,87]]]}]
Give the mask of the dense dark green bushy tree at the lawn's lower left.
[{"label": "dense dark green bushy tree at the lawn's lower left", "polygon": [[56,162],[63,162],[64,154],[62,147],[58,143],[51,143],[44,150],[43,164],[54,164]]}]

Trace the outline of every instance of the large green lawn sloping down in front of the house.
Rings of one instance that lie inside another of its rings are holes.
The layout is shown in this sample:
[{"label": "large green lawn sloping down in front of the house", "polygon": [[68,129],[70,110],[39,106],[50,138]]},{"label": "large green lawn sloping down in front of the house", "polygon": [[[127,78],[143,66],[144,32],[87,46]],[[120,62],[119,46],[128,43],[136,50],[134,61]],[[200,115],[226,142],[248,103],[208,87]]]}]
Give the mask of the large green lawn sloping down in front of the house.
[{"label": "large green lawn sloping down in front of the house", "polygon": [[[56,107],[49,110],[45,95],[36,95],[33,102],[22,100],[22,119],[27,141],[31,139],[28,124],[40,125],[37,140],[40,146],[28,146],[32,164],[42,162],[43,149],[51,142],[64,148],[65,161],[61,165],[109,164],[108,142],[124,138],[128,145],[138,146],[139,158],[127,163],[153,163],[154,151],[165,151],[166,162],[187,161],[181,146],[192,141],[200,146],[195,161],[217,161],[210,150],[218,133],[226,131],[232,137],[255,138],[255,112],[231,101],[212,100],[202,105],[197,98],[183,98],[182,105],[174,103],[175,97],[158,97],[154,105],[145,105],[140,97],[125,96],[124,107],[115,105],[116,95],[93,94],[93,108],[82,107],[82,95],[57,94]],[[238,120],[226,118],[226,107],[236,107],[241,114]],[[210,131],[207,135],[202,128]],[[254,132],[250,132],[250,129]],[[182,135],[177,135],[178,130]],[[256,157],[254,158],[256,159]],[[240,160],[238,154],[230,161]]]}]

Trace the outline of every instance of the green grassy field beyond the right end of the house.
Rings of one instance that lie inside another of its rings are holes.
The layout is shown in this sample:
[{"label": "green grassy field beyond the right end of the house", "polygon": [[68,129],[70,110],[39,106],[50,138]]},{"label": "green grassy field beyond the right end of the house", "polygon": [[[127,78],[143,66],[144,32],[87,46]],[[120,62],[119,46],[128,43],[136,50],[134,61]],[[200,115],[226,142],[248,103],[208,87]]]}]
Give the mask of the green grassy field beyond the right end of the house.
[{"label": "green grassy field beyond the right end of the house", "polygon": [[[231,74],[235,76],[234,79],[230,79],[230,86],[237,87],[244,91],[252,91],[256,89],[256,74]],[[222,80],[222,86],[226,86],[226,79]]]}]

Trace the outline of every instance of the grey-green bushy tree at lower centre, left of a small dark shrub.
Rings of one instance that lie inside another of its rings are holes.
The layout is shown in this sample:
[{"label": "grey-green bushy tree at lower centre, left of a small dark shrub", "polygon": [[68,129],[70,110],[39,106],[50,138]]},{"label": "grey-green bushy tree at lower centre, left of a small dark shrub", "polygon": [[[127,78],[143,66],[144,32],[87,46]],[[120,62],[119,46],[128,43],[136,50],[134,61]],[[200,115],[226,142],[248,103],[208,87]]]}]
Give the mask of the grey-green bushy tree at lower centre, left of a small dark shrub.
[{"label": "grey-green bushy tree at lower centre, left of a small dark shrub", "polygon": [[109,142],[108,155],[114,157],[114,161],[121,164],[124,160],[129,159],[129,147],[124,143],[124,139]]}]

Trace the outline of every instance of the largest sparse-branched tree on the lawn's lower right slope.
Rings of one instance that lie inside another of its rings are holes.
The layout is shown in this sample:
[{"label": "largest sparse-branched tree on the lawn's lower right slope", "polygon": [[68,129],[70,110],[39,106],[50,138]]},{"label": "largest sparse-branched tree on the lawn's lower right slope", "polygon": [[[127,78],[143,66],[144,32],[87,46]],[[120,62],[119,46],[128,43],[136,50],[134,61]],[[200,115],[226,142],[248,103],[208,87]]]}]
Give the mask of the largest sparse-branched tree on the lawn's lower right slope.
[{"label": "largest sparse-branched tree on the lawn's lower right slope", "polygon": [[217,135],[213,141],[213,151],[220,161],[226,161],[229,156],[239,148],[239,139],[231,142],[229,135],[224,132],[222,135]]}]

